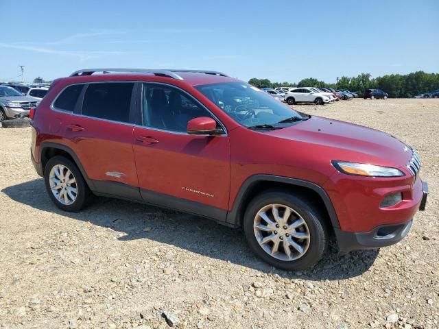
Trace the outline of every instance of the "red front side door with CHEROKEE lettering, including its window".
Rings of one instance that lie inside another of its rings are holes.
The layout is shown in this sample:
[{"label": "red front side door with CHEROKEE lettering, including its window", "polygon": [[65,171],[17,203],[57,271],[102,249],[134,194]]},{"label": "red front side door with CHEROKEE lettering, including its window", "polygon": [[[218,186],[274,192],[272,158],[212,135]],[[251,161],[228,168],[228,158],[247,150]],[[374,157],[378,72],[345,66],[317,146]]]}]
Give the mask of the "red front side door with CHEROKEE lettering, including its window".
[{"label": "red front side door with CHEROKEE lettering, including its window", "polygon": [[[230,147],[225,127],[185,91],[144,83],[141,124],[132,144],[141,196],[169,208],[225,220],[230,189]],[[187,122],[212,117],[224,134],[187,134]]]}]

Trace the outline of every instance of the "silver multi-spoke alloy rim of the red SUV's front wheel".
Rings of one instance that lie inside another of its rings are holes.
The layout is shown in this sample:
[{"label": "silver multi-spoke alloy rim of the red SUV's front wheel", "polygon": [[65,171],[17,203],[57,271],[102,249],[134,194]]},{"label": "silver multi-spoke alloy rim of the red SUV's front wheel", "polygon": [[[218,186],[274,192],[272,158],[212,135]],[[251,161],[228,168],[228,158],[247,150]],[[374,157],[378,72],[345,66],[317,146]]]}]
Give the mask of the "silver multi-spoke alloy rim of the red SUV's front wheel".
[{"label": "silver multi-spoke alloy rim of the red SUV's front wheel", "polygon": [[305,220],[283,204],[269,204],[254,217],[254,236],[270,256],[291,261],[304,256],[311,236]]}]

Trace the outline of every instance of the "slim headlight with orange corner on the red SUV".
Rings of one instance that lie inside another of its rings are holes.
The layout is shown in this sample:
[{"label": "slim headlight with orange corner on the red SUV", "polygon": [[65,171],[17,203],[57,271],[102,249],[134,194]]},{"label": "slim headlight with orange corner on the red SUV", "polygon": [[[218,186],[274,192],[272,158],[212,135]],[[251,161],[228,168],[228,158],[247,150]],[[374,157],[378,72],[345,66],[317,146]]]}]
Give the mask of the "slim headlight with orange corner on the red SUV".
[{"label": "slim headlight with orange corner on the red SUV", "polygon": [[370,176],[370,177],[399,177],[404,173],[396,168],[375,166],[374,164],[355,163],[355,162],[343,162],[343,161],[331,161],[335,169],[340,173],[346,173],[348,175],[357,176]]}]

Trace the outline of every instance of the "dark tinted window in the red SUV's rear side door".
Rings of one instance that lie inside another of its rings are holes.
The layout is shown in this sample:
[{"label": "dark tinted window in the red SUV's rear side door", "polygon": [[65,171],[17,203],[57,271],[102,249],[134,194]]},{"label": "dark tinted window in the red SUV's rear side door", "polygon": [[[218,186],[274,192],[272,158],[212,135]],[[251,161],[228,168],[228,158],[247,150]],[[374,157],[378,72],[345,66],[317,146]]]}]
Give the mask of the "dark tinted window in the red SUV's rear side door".
[{"label": "dark tinted window in the red SUV's rear side door", "polygon": [[82,114],[119,122],[130,121],[130,103],[134,84],[89,84],[82,103]]}]

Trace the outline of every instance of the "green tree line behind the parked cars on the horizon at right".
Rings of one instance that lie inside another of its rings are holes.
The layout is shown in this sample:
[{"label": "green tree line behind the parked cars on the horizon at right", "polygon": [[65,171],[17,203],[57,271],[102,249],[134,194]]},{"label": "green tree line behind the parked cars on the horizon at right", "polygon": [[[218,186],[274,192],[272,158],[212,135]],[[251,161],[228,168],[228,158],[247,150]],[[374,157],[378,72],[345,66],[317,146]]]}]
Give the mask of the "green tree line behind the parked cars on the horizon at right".
[{"label": "green tree line behind the parked cars on the horizon at right", "polygon": [[428,93],[439,89],[439,73],[425,73],[418,71],[407,75],[390,74],[375,77],[369,73],[361,73],[357,77],[337,77],[337,83],[329,84],[313,77],[300,80],[300,82],[271,82],[268,79],[253,77],[248,83],[257,88],[277,87],[329,87],[334,89],[347,89],[363,95],[366,89],[382,89],[389,97],[414,97],[420,93]]}]

